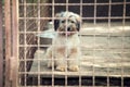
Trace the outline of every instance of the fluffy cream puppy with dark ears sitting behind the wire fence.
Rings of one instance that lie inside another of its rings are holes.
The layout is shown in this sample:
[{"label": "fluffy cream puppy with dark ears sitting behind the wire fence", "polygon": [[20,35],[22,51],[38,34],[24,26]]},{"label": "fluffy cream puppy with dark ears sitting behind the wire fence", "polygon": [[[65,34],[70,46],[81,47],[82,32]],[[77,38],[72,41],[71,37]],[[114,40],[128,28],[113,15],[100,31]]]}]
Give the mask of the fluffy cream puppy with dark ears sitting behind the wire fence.
[{"label": "fluffy cream puppy with dark ears sitting behind the wire fence", "polygon": [[73,72],[79,70],[80,41],[80,16],[73,12],[61,12],[55,15],[54,30],[56,33],[52,46],[47,50],[46,58],[48,67],[55,66],[57,71]]}]

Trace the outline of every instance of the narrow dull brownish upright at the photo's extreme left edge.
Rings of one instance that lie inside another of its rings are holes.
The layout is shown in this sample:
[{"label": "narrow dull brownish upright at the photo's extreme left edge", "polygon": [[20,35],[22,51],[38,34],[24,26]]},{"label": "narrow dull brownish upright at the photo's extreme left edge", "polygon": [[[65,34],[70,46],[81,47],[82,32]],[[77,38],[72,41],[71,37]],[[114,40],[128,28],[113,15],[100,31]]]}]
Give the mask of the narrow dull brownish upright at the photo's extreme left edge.
[{"label": "narrow dull brownish upright at the photo's extreme left edge", "polygon": [[3,29],[2,29],[2,0],[0,0],[0,87],[3,87]]}]

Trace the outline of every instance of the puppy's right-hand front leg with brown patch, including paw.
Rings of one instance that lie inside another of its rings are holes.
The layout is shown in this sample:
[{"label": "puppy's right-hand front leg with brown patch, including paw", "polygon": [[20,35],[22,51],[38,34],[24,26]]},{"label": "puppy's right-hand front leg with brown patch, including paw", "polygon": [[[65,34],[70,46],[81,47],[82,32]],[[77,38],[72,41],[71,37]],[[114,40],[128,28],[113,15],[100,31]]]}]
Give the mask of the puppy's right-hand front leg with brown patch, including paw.
[{"label": "puppy's right-hand front leg with brown patch, including paw", "polygon": [[79,59],[80,50],[78,48],[73,48],[67,62],[69,71],[77,72],[79,70]]}]

